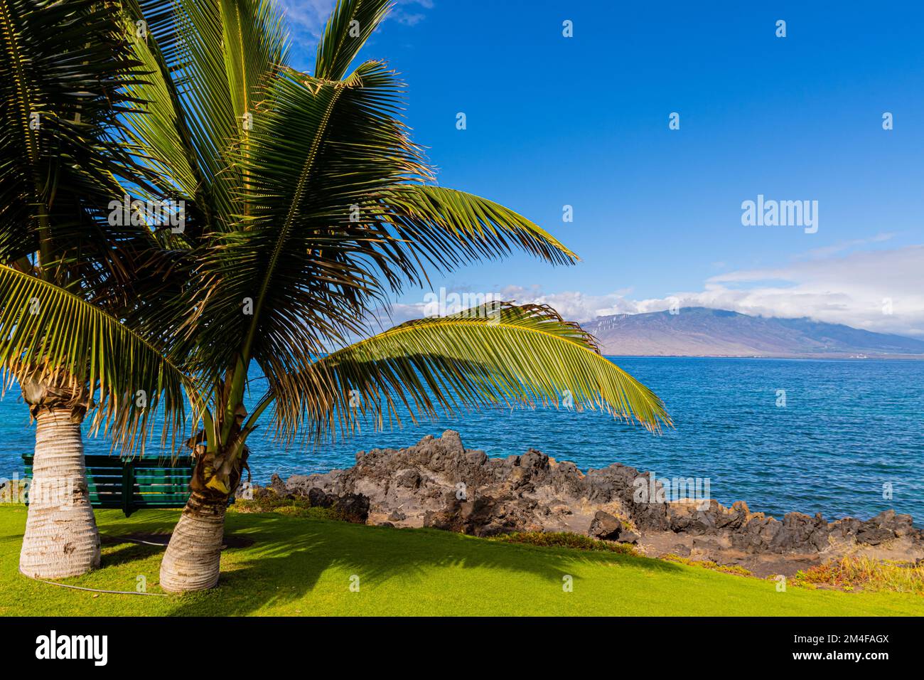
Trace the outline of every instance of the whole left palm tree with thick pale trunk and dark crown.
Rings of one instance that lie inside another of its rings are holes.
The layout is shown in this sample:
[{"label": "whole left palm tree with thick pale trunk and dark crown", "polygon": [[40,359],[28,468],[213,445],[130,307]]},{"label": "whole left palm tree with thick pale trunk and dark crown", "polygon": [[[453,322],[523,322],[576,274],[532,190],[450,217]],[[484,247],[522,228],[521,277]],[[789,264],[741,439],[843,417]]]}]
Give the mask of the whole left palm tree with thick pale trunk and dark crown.
[{"label": "whole left palm tree with thick pale trunk and dark crown", "polygon": [[140,67],[114,8],[0,0],[0,371],[5,388],[18,378],[36,421],[20,569],[46,578],[100,562],[81,435],[94,392],[102,387],[96,427],[128,434],[145,414],[116,410],[112,389],[159,364],[149,357],[136,370],[120,352],[136,341],[124,329],[86,342],[60,328],[70,311],[91,314],[96,331],[116,328],[138,255],[156,244],[150,229],[105,218],[123,193],[117,178],[135,167],[117,129]]}]

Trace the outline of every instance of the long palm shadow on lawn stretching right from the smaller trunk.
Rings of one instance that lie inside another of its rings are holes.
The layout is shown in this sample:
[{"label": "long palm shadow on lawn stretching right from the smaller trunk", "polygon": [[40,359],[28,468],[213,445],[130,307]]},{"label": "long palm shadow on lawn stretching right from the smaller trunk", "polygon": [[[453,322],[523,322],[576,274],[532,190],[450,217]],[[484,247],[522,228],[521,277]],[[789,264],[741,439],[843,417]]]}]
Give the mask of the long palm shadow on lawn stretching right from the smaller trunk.
[{"label": "long palm shadow on lawn stretching right from the smaller trunk", "polygon": [[[246,615],[266,606],[301,600],[331,568],[359,575],[364,586],[395,577],[420,578],[432,567],[486,568],[535,575],[554,583],[561,583],[562,576],[571,574],[581,563],[622,563],[657,572],[680,571],[674,563],[614,552],[537,548],[438,529],[351,525],[272,513],[229,514],[225,530],[255,539],[246,553],[238,553],[246,554],[246,559],[223,555],[218,588],[225,615]],[[573,577],[576,581],[580,578]],[[261,595],[254,597],[258,592]],[[172,613],[201,615],[201,602],[184,598]]]}]

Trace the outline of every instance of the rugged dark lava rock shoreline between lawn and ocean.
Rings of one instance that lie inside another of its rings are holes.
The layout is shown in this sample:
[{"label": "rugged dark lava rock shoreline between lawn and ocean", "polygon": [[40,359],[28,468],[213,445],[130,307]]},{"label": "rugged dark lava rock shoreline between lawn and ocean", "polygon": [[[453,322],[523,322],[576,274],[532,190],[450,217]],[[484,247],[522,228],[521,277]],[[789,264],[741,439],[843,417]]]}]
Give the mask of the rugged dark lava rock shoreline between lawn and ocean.
[{"label": "rugged dark lava rock shoreline between lawn and ocean", "polygon": [[490,458],[466,449],[453,430],[407,449],[359,451],[348,469],[293,475],[285,482],[274,476],[269,488],[257,492],[307,499],[371,525],[429,526],[480,537],[567,531],[632,543],[650,557],[675,554],[759,576],[794,575],[845,555],[924,559],[924,533],[907,514],[889,510],[866,521],[828,522],[821,514],[787,513],[779,520],[751,513],[743,501],[727,508],[699,496],[663,501],[671,498],[670,489],[633,467],[612,464],[585,474],[576,464],[532,449]]}]

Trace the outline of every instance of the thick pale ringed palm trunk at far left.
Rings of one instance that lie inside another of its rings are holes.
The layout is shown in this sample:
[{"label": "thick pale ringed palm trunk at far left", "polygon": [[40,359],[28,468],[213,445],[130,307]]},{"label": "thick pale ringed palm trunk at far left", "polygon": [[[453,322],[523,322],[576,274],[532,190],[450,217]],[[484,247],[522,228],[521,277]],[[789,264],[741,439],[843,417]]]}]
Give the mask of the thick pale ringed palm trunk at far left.
[{"label": "thick pale ringed palm trunk at far left", "polygon": [[38,578],[86,574],[100,565],[100,535],[83,461],[82,416],[70,408],[36,414],[29,516],[19,569]]}]

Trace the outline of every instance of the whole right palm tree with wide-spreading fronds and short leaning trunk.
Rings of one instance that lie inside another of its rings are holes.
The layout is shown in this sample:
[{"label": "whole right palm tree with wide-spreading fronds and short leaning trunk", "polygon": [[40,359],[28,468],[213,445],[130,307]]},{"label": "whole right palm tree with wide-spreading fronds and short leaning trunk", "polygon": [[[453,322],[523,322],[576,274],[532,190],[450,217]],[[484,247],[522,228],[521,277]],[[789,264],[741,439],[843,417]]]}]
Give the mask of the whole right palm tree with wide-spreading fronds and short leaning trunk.
[{"label": "whole right palm tree with wide-spreading fronds and short leaning trunk", "polygon": [[[191,495],[161,566],[169,591],[213,587],[225,507],[247,439],[274,404],[275,431],[322,438],[399,405],[431,416],[497,402],[576,402],[657,428],[663,404],[602,358],[552,309],[484,305],[368,335],[390,295],[512,248],[575,259],[513,211],[432,184],[400,119],[401,83],[380,61],[349,70],[386,0],[340,0],[314,73],[286,66],[283,17],[267,0],[141,2],[152,29],[140,55],[160,82],[134,93],[134,141],[188,201],[176,299],[141,304],[144,335],[196,380],[202,430]],[[153,79],[152,79],[153,80]],[[251,365],[268,389],[243,405]],[[356,395],[361,395],[359,404]]]}]

